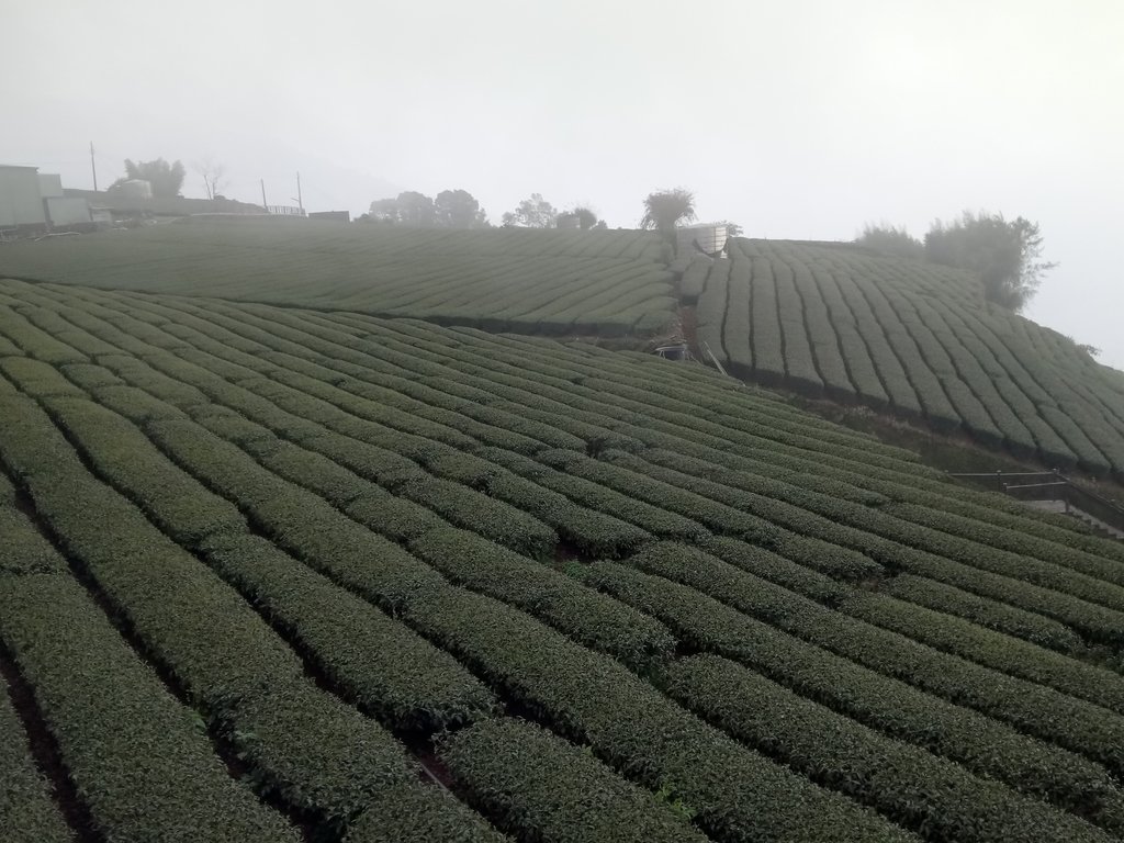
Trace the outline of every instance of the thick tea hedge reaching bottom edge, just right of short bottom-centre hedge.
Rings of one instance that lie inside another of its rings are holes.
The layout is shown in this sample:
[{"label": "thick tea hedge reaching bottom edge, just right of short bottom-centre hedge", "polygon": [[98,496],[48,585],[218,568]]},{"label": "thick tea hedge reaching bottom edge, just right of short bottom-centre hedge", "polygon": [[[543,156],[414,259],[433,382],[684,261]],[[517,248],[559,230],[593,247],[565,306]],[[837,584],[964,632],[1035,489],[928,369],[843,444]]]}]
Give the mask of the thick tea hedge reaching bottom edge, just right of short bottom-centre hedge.
[{"label": "thick tea hedge reaching bottom edge, just right of short bottom-centre hedge", "polygon": [[909,839],[852,804],[810,789],[686,715],[616,662],[538,632],[529,619],[489,614],[479,598],[456,592],[408,614],[509,696],[589,743],[629,778],[652,789],[673,782],[699,826],[719,840]]}]

